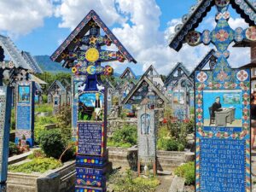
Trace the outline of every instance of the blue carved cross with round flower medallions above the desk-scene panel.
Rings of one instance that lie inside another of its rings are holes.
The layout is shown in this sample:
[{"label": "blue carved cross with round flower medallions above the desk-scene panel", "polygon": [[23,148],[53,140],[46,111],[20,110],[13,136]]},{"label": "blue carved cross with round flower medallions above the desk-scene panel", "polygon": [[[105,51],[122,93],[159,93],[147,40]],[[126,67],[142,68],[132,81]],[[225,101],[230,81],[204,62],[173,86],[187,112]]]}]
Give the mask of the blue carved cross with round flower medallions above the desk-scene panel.
[{"label": "blue carved cross with round flower medallions above the desk-scene panel", "polygon": [[233,30],[229,25],[230,12],[228,11],[230,6],[230,0],[215,0],[215,6],[217,7],[217,14],[215,20],[217,25],[210,32],[205,30],[202,33],[192,31],[189,32],[185,38],[185,41],[191,45],[196,46],[198,44],[214,44],[217,51],[215,56],[218,58],[216,66],[213,68],[212,76],[217,77],[214,79],[216,82],[230,81],[231,68],[227,59],[230,56],[228,50],[232,42],[240,42],[243,39],[250,41],[256,41],[256,26],[250,26],[243,30],[241,27],[237,27]]}]

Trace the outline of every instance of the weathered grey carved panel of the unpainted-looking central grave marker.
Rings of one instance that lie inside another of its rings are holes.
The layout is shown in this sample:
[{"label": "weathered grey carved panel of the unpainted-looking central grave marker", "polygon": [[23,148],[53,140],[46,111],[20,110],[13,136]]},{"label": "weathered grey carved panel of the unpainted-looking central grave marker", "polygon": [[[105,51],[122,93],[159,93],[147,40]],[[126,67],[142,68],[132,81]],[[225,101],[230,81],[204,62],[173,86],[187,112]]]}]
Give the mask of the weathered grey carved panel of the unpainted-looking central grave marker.
[{"label": "weathered grey carved panel of the unpainted-looking central grave marker", "polygon": [[137,113],[138,158],[140,164],[153,165],[156,158],[155,112],[143,105]]}]

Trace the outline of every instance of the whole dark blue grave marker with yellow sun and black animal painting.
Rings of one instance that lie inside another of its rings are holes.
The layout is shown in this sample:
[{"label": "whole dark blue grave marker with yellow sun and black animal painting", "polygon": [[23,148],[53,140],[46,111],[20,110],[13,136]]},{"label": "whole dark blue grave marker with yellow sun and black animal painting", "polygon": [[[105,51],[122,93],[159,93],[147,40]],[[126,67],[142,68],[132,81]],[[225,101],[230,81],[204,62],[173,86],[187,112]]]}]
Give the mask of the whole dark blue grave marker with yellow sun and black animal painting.
[{"label": "whole dark blue grave marker with yellow sun and black animal painting", "polygon": [[[105,35],[101,34],[101,29]],[[112,43],[118,51],[102,49],[102,46]],[[111,75],[113,68],[102,67],[101,63],[136,61],[93,10],[51,59],[65,61],[64,67],[72,67],[74,74],[73,127],[77,126],[75,191],[106,191],[108,87],[102,83],[101,75]]]}]

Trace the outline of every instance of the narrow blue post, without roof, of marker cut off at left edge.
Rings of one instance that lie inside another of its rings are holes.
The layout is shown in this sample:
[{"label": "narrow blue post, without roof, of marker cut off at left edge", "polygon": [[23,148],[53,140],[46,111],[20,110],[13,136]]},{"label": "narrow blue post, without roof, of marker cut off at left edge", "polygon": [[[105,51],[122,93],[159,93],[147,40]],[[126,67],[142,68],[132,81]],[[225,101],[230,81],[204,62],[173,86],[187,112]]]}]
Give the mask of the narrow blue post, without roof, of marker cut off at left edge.
[{"label": "narrow blue post, without roof, of marker cut off at left edge", "polygon": [[8,172],[9,130],[11,113],[11,89],[0,87],[0,190],[6,191],[5,182]]}]

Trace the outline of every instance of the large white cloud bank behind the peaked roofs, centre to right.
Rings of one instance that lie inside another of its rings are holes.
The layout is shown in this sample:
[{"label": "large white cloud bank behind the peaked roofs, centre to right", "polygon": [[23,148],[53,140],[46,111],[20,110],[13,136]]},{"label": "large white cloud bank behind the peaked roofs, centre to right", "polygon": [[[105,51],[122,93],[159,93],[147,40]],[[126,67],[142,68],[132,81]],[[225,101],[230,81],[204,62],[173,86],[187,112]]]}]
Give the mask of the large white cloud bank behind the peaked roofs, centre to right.
[{"label": "large white cloud bank behind the peaked roofs, centre to right", "polygon": [[[168,74],[177,62],[183,62],[191,71],[213,47],[203,44],[189,47],[183,44],[179,52],[171,49],[168,46],[168,39],[181,19],[170,20],[166,30],[161,32],[161,11],[155,0],[86,0],[86,4],[84,2],[83,0],[62,0],[56,9],[56,15],[62,18],[60,26],[73,29],[84,18],[84,13],[86,14],[90,9],[95,9],[108,26],[118,23],[119,26],[115,26],[112,30],[113,34],[138,62],[136,67],[131,64],[111,63],[110,65],[119,73],[129,65],[137,74],[142,74],[153,64],[159,73]],[[215,25],[214,19],[211,19],[212,15],[209,16],[205,24],[201,24],[207,25],[204,26],[206,28]],[[230,25],[235,28],[236,26],[244,27],[240,19],[230,19]],[[247,63],[248,50],[243,50],[241,54],[239,52],[241,49],[230,49],[232,50],[230,55],[232,67]]]}]

